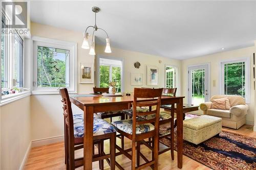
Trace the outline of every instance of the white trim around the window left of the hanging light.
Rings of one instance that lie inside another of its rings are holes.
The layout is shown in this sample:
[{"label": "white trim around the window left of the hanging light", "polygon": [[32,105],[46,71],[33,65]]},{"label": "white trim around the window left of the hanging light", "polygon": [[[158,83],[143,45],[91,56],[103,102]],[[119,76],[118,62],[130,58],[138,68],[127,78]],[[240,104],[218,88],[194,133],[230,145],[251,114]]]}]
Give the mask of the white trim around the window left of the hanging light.
[{"label": "white trim around the window left of the hanging light", "polygon": [[[37,56],[37,48],[36,43],[46,43],[50,45],[46,46],[52,46],[56,48],[63,48],[63,46],[70,50],[70,56],[73,55],[73,57],[70,57],[70,88],[68,88],[69,93],[77,93],[77,43],[76,42],[70,42],[70,41],[62,41],[62,40],[56,40],[51,38],[44,38],[44,37],[38,37],[38,36],[32,36],[31,41],[31,87],[32,87],[32,94],[59,94],[58,88],[44,88],[45,90],[39,90],[37,89],[37,59],[35,61],[35,56]],[[36,88],[33,86],[33,82],[36,82]]]}]

